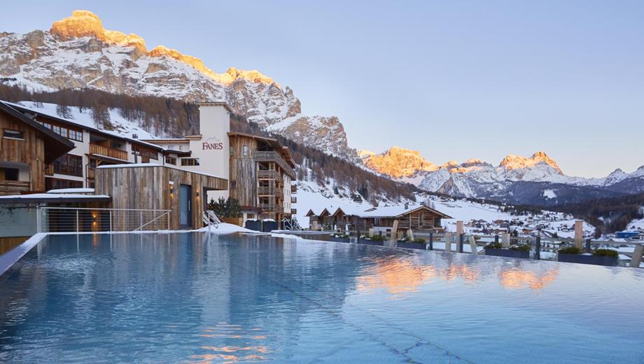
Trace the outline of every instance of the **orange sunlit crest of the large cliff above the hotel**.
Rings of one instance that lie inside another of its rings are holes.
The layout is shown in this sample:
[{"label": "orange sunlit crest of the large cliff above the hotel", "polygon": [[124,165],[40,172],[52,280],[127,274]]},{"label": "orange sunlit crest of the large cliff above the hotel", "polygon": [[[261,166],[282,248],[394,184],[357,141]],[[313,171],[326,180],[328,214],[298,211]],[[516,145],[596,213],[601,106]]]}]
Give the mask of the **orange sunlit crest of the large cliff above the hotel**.
[{"label": "orange sunlit crest of the large cliff above the hotel", "polygon": [[[230,85],[237,79],[244,79],[254,83],[265,83],[267,85],[275,83],[272,78],[264,76],[256,70],[243,71],[240,69],[229,68],[225,73],[216,73],[205,66],[201,59],[191,55],[184,55],[178,50],[167,48],[163,45],[159,45],[148,52],[146,42],[143,38],[137,36],[137,34],[125,35],[120,31],[105,29],[101,19],[96,14],[87,10],[75,10],[71,13],[71,17],[54,22],[50,29],[50,33],[64,41],[69,40],[70,38],[93,36],[104,43],[121,45],[124,47],[134,47],[139,52],[139,55],[148,55],[150,57],[170,57],[179,62],[193,66],[197,71],[201,71],[210,78],[213,78],[220,83],[224,83],[225,85]],[[281,88],[279,84],[275,84]]]}]

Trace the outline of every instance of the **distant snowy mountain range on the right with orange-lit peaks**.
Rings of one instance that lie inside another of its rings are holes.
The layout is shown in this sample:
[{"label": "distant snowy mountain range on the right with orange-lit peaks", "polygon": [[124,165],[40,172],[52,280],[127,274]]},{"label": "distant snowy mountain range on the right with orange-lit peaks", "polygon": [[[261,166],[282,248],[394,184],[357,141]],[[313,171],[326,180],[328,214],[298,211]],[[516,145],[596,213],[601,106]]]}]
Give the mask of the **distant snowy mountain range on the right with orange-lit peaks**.
[{"label": "distant snowy mountain range on the right with orange-lit peaks", "polygon": [[644,166],[631,174],[617,169],[602,179],[566,176],[544,152],[507,155],[497,165],[470,159],[435,165],[419,152],[393,147],[381,154],[360,152],[366,167],[435,193],[489,198],[512,204],[554,205],[644,191]]}]

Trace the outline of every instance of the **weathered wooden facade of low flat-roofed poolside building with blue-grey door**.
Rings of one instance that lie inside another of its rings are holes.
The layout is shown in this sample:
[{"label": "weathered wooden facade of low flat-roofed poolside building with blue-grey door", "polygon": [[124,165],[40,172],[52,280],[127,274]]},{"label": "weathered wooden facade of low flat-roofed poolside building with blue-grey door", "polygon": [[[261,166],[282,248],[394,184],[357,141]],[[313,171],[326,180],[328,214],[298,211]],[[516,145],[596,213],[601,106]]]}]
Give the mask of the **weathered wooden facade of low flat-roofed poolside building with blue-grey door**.
[{"label": "weathered wooden facade of low flat-roofed poolside building with blue-grey door", "polygon": [[[172,182],[172,183],[171,183]],[[162,165],[99,167],[96,194],[112,197],[113,209],[170,210],[170,229],[181,229],[179,188],[190,186],[190,228],[201,228],[207,190],[225,190],[228,181],[207,174]],[[118,230],[115,225],[114,230]]]}]

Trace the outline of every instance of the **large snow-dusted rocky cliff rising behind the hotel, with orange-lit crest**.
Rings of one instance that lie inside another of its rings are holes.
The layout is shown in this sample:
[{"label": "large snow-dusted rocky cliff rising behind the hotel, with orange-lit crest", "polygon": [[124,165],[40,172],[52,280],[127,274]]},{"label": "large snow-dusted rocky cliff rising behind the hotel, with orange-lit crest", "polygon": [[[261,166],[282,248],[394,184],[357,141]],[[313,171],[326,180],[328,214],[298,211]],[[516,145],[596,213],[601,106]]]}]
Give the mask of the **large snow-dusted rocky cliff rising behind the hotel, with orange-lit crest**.
[{"label": "large snow-dusted rocky cliff rising behind the hotel, with orange-lit crest", "polygon": [[[0,33],[0,78],[32,90],[85,87],[188,102],[225,101],[264,129],[356,160],[335,116],[307,116],[293,90],[259,71],[216,73],[204,62],[136,34],[105,29],[97,15],[74,11],[49,31]],[[15,80],[13,80],[15,79]],[[179,134],[179,131],[178,131]]]}]

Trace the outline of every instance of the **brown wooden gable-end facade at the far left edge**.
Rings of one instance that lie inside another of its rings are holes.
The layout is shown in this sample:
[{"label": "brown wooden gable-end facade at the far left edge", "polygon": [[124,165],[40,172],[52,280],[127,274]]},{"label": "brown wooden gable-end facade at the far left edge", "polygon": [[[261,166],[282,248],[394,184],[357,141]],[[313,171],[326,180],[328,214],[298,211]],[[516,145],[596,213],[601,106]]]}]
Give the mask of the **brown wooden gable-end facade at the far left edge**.
[{"label": "brown wooden gable-end facade at the far left edge", "polygon": [[[21,137],[7,137],[8,132],[20,132]],[[0,195],[43,192],[48,164],[73,148],[71,141],[3,102],[0,133]]]}]

